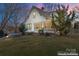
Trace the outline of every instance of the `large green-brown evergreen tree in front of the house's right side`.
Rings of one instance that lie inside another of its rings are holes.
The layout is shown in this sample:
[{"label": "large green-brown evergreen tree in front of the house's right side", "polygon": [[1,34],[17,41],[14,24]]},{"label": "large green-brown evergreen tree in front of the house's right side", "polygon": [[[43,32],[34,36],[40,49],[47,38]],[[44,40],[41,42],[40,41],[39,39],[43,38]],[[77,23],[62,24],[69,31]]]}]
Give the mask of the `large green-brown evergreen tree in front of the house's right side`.
[{"label": "large green-brown evergreen tree in front of the house's right side", "polygon": [[72,21],[75,20],[75,12],[69,10],[69,5],[58,5],[56,11],[52,14],[52,23],[60,35],[67,35],[72,27]]}]

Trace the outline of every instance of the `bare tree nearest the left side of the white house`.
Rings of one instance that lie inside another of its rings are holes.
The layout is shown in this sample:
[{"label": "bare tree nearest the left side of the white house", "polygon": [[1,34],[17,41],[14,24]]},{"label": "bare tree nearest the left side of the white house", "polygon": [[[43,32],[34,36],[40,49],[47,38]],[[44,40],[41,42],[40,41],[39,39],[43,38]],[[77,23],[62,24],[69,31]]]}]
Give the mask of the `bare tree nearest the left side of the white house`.
[{"label": "bare tree nearest the left side of the white house", "polygon": [[20,24],[26,20],[27,9],[24,10],[22,5],[23,4],[15,4],[14,5],[15,11],[12,15],[11,23],[13,23],[15,32],[18,32]]}]

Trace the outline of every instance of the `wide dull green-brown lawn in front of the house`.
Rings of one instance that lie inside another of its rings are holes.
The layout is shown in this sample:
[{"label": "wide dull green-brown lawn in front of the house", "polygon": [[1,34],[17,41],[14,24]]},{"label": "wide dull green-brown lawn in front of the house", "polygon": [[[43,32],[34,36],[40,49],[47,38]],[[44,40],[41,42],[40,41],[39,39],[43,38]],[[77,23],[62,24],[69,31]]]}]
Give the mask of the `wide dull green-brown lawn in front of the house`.
[{"label": "wide dull green-brown lawn in front of the house", "polygon": [[67,48],[79,51],[79,35],[25,35],[0,40],[1,56],[54,56]]}]

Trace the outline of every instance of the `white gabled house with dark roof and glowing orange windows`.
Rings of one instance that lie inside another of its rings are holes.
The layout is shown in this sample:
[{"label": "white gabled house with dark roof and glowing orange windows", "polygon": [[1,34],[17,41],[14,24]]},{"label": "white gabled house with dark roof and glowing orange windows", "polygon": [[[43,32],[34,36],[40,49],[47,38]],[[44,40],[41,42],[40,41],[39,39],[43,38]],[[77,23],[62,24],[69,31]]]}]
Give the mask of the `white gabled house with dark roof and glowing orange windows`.
[{"label": "white gabled house with dark roof and glowing orange windows", "polygon": [[28,14],[28,18],[25,22],[26,32],[38,32],[40,29],[51,31],[52,26],[52,14],[51,12],[45,12],[44,8],[37,8],[33,6]]}]

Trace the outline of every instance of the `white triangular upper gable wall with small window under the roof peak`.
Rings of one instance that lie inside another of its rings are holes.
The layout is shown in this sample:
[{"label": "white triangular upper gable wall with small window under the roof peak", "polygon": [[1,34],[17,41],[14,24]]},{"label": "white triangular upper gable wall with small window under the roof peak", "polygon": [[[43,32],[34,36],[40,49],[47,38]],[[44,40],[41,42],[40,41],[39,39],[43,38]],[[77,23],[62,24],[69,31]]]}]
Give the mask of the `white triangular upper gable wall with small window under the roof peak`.
[{"label": "white triangular upper gable wall with small window under the roof peak", "polygon": [[34,9],[29,18],[27,19],[26,23],[37,23],[37,22],[43,22],[45,21],[45,17],[43,17],[42,15],[39,14],[39,12]]}]

